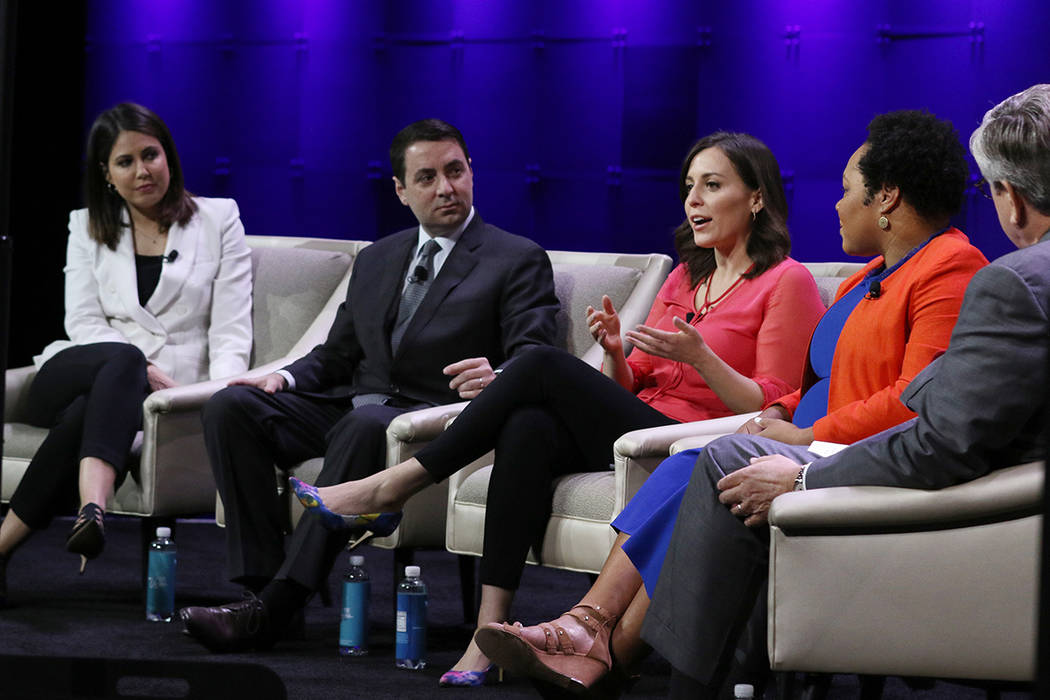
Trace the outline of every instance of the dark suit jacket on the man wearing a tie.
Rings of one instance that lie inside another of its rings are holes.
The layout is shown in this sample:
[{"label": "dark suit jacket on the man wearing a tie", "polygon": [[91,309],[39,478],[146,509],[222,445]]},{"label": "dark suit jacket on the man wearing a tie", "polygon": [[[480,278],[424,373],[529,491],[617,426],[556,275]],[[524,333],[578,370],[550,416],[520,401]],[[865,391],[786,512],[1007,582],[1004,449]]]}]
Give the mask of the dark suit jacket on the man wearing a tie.
[{"label": "dark suit jacket on the man wearing a tie", "polygon": [[418,232],[395,233],[357,256],[328,339],[285,367],[297,391],[449,403],[459,396],[441,374],[446,365],[486,357],[497,367],[553,342],[559,302],[550,258],[476,211],[392,357],[391,330]]}]

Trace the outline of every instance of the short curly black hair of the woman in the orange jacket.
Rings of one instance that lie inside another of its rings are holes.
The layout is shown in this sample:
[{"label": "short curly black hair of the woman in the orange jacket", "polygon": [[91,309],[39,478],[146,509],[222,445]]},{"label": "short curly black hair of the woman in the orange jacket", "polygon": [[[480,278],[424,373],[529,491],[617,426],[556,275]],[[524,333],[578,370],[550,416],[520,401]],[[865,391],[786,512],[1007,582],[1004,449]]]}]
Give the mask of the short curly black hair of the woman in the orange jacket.
[{"label": "short curly black hair of the woman in the orange jacket", "polygon": [[925,219],[944,219],[963,206],[969,177],[966,149],[951,122],[925,110],[879,114],[867,125],[869,148],[857,166],[870,204],[882,187]]}]

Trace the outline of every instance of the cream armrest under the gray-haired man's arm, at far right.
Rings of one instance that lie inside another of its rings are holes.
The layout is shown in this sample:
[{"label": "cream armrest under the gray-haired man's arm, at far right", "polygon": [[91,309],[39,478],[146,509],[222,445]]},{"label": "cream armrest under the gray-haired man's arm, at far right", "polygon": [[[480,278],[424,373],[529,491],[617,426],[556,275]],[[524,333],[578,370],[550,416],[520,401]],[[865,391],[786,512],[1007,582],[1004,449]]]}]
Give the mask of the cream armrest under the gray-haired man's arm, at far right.
[{"label": "cream armrest under the gray-haired man's arm, at far right", "polygon": [[1038,511],[1042,462],[998,469],[936,491],[885,486],[843,486],[777,496],[770,525],[786,535],[941,529],[1009,519]]}]

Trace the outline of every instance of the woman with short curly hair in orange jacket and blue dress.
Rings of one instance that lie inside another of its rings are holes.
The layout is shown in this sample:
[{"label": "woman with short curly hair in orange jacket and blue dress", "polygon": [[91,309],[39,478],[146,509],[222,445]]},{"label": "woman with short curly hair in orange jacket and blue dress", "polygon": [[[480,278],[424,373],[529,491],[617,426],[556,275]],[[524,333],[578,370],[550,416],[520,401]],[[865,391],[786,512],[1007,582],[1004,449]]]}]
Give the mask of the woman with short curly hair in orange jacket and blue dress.
[{"label": "woman with short curly hair in orange jacket and blue dress", "polygon": [[[877,257],[841,284],[814,332],[803,389],[769,402],[741,431],[848,443],[915,416],[900,394],[948,346],[966,285],[987,263],[948,225],[967,175],[950,123],[916,111],[872,121],[846,164],[836,210],[843,251]],[[622,681],[622,670],[648,651],[639,637],[648,591],[698,451],[666,460],[613,522],[617,546],[580,604],[536,627],[490,625],[477,635],[481,649],[517,673],[576,692]],[[610,675],[614,665],[621,673]]]}]

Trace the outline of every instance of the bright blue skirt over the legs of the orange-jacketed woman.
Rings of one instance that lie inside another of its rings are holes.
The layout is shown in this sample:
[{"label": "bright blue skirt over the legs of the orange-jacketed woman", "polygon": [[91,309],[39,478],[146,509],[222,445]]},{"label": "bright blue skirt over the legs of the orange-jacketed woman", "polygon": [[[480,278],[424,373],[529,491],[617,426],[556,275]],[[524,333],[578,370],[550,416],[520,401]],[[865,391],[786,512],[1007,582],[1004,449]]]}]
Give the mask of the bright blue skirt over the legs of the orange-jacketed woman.
[{"label": "bright blue skirt over the legs of the orange-jacketed woman", "polygon": [[681,496],[702,449],[688,449],[664,460],[612,522],[617,532],[630,535],[624,552],[642,574],[649,597],[656,588]]}]

